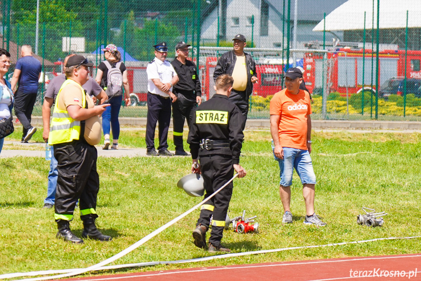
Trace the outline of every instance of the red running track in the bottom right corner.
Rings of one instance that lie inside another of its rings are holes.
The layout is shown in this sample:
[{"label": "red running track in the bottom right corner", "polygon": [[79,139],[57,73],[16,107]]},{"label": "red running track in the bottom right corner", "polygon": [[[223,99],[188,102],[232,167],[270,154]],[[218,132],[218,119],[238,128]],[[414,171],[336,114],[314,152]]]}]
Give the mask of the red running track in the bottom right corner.
[{"label": "red running track in the bottom right corner", "polygon": [[421,280],[421,254],[196,267],[98,277],[83,281],[331,281]]}]

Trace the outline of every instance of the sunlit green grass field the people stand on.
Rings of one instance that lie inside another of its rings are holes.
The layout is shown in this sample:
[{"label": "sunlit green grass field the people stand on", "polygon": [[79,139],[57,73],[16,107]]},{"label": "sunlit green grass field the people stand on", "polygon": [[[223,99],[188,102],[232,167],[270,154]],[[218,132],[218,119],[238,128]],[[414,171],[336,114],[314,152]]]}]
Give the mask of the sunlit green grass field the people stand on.
[{"label": "sunlit green grass field the people stand on", "polygon": [[[34,136],[36,140],[40,133]],[[15,134],[19,138],[20,133]],[[420,235],[420,134],[314,132],[315,207],[328,223],[324,228],[302,223],[304,201],[295,173],[291,200],[294,223],[281,224],[279,167],[270,152],[270,133],[256,130],[245,135],[241,165],[247,176],[235,179],[230,216],[240,216],[242,210],[246,216],[257,215],[260,232],[240,235],[224,231],[222,242],[233,252]],[[122,130],[120,143],[144,147],[144,129]],[[119,253],[200,202],[200,198],[176,187],[178,179],[189,173],[190,164],[188,157],[99,158],[98,222],[101,231],[114,239],[110,243],[89,240],[72,245],[55,238],[54,210],[41,209],[49,162],[40,157],[0,158],[0,274],[87,267]],[[363,206],[390,214],[384,217],[383,227],[357,225],[356,216]],[[82,231],[78,211],[71,222],[76,235]],[[193,212],[113,264],[210,256],[192,242],[198,216],[199,211]],[[86,275],[408,254],[419,253],[419,245],[420,239],[386,240]]]}]

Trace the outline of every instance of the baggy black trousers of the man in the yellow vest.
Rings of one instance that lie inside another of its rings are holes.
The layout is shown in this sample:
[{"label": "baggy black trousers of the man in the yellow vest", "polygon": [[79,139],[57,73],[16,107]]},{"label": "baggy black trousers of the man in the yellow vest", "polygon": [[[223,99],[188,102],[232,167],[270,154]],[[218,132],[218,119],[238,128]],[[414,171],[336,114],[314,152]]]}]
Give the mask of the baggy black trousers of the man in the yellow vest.
[{"label": "baggy black trousers of the man in the yellow vest", "polygon": [[54,145],[58,165],[55,219],[72,220],[79,199],[80,218],[96,218],[100,178],[97,173],[97,149],[84,140]]}]

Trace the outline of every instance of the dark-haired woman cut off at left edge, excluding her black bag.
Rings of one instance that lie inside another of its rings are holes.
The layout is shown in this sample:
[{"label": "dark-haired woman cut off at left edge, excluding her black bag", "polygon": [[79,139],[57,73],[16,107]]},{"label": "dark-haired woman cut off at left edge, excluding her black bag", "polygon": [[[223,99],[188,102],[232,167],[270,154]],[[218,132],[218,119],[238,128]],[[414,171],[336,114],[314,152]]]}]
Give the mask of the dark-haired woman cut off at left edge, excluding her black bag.
[{"label": "dark-haired woman cut off at left edge, excluding her black bag", "polygon": [[[10,53],[0,48],[0,120],[8,119],[12,115],[14,96],[9,81],[4,75],[9,71]],[[0,152],[3,148],[4,138],[0,138]]]}]

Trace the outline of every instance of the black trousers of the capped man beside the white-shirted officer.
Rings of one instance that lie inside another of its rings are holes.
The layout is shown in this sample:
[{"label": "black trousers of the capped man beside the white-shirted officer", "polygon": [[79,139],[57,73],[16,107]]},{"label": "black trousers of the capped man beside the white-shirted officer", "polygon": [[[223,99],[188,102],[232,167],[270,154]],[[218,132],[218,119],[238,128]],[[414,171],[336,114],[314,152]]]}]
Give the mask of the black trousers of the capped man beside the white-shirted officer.
[{"label": "black trousers of the capped man beside the white-shirted officer", "polygon": [[190,100],[187,96],[192,96],[193,92],[184,92],[174,89],[174,94],[177,95],[177,101],[172,103],[173,106],[173,136],[174,146],[177,151],[184,151],[183,148],[183,129],[184,120],[187,117],[187,126],[190,129],[190,123],[193,119],[193,113],[197,108],[196,100]]}]

